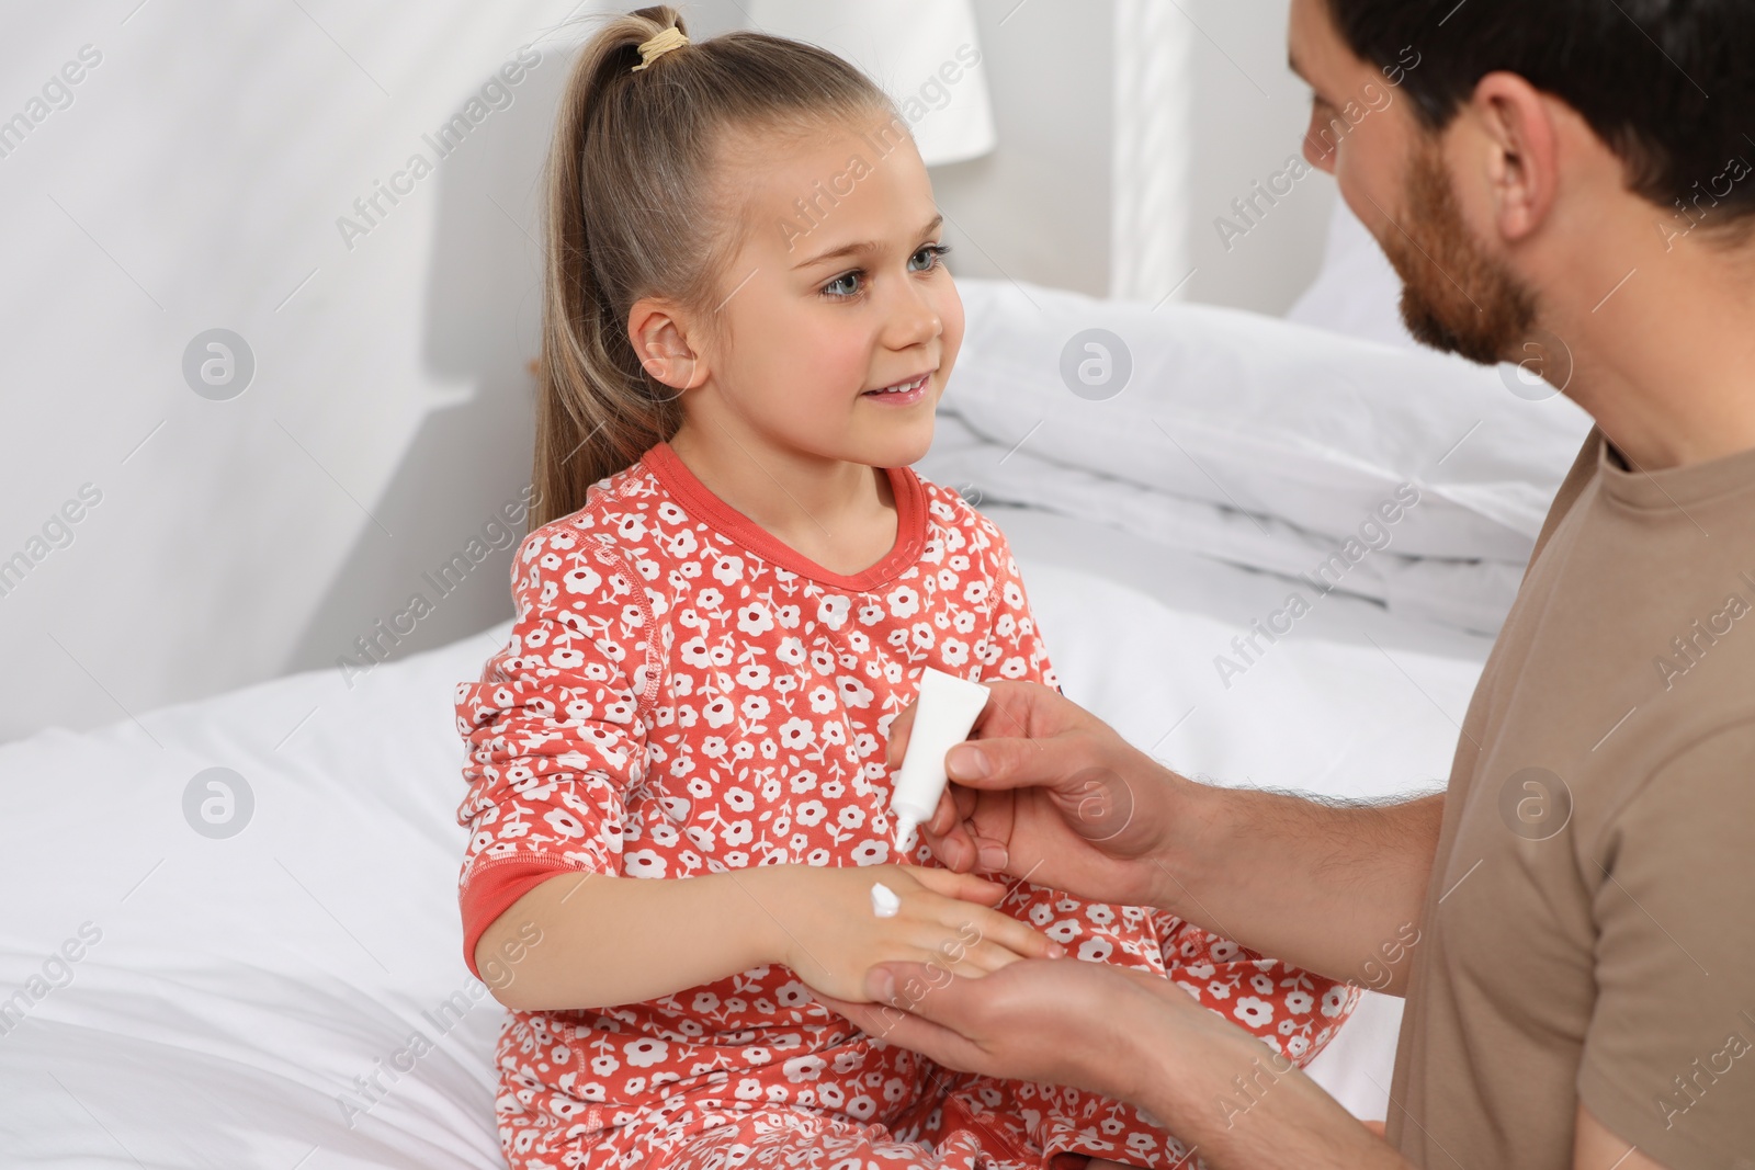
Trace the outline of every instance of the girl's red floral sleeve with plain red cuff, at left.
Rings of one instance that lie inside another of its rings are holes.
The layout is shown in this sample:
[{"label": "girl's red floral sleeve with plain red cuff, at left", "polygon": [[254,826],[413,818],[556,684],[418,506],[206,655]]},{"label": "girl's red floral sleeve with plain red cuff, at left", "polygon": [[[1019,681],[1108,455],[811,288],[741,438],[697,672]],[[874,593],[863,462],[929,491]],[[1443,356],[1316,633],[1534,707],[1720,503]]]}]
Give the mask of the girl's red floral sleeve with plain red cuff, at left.
[{"label": "girl's red floral sleeve with plain red cuff, at left", "polygon": [[516,621],[479,682],[456,691],[470,838],[458,875],[463,961],[518,898],[562,872],[621,874],[656,686],[651,605],[627,561],[586,533],[541,528],[512,563]]}]

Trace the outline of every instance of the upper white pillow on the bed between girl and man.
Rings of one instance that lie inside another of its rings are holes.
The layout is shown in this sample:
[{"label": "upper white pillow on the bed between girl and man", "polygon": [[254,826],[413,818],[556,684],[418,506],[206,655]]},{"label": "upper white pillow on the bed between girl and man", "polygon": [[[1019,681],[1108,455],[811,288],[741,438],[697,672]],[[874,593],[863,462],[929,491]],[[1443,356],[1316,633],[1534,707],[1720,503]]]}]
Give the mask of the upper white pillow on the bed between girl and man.
[{"label": "upper white pillow on the bed between girl and man", "polygon": [[969,326],[942,409],[986,439],[1332,537],[1413,482],[1408,556],[1527,560],[1590,428],[1564,396],[1532,402],[1453,356],[1211,305],[958,288]]}]

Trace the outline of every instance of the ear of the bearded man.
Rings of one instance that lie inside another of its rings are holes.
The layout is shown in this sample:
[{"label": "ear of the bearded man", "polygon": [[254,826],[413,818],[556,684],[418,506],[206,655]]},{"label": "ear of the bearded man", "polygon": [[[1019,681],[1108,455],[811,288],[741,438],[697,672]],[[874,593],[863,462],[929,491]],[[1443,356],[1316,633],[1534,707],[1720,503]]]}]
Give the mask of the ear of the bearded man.
[{"label": "ear of the bearded man", "polygon": [[1502,70],[1481,77],[1471,107],[1490,151],[1495,226],[1508,242],[1522,240],[1548,219],[1560,186],[1555,111],[1536,86]]}]

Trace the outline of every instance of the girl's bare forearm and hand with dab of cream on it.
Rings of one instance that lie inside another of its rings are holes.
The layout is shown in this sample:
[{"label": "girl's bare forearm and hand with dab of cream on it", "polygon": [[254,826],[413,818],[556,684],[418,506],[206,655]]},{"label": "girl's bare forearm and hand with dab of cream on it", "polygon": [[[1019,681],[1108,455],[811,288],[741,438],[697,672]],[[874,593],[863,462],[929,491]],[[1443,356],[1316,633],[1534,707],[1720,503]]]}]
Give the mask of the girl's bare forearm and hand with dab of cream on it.
[{"label": "girl's bare forearm and hand with dab of cream on it", "polygon": [[[878,881],[900,895],[895,917],[872,914]],[[504,972],[493,995],[514,1010],[637,1003],[776,963],[816,991],[863,1002],[874,963],[979,977],[1064,954],[988,909],[1004,893],[972,875],[899,865],[765,865],[681,879],[570,872],[500,914],[476,961]]]}]

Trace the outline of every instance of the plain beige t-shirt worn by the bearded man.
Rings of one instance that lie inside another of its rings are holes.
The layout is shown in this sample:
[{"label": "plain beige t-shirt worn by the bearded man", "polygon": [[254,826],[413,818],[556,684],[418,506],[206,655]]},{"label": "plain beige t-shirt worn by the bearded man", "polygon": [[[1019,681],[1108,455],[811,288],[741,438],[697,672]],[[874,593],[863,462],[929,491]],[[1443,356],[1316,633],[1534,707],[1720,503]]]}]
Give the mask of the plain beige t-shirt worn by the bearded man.
[{"label": "plain beige t-shirt worn by the bearded man", "polygon": [[1755,451],[1592,432],[1481,675],[1388,1116],[1418,1166],[1755,1170]]}]

